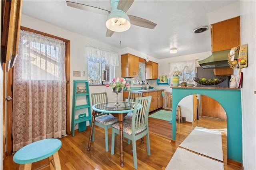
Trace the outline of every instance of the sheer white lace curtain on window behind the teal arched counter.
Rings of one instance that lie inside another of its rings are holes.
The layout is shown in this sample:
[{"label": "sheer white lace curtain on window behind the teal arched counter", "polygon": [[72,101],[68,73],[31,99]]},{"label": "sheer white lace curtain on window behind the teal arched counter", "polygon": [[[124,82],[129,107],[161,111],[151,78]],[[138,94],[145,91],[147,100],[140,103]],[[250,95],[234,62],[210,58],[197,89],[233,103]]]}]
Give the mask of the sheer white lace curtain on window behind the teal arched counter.
[{"label": "sheer white lace curtain on window behind the teal arched counter", "polygon": [[172,76],[173,71],[179,70],[182,72],[182,75],[180,76],[180,82],[185,80],[187,84],[194,84],[193,77],[196,70],[196,60],[169,63],[169,67],[170,76]]}]

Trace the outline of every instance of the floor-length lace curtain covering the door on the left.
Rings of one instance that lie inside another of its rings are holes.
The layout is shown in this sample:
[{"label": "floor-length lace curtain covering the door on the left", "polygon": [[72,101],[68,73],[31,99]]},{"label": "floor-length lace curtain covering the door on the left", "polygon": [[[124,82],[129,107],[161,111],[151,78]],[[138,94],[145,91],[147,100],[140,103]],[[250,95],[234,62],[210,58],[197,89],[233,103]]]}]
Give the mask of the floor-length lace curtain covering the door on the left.
[{"label": "floor-length lace curtain covering the door on the left", "polygon": [[65,42],[20,31],[14,65],[13,151],[66,135]]}]

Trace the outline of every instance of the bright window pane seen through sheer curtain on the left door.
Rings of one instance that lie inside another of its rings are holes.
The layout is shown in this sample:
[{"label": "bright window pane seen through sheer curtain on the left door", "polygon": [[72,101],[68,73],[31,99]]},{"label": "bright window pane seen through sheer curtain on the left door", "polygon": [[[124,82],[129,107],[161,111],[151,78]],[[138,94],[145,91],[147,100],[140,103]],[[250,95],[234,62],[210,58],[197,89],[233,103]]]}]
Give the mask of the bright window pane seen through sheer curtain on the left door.
[{"label": "bright window pane seen through sheer curtain on the left door", "polygon": [[[23,67],[22,79],[28,80],[56,80],[59,78],[59,66],[61,61],[61,50],[64,47],[59,42],[48,40],[48,44],[45,42],[38,42],[31,40],[29,37],[23,37]],[[50,43],[49,43],[50,42]],[[64,49],[65,50],[65,49]],[[28,61],[30,63],[28,63]],[[30,72],[28,66],[31,67]],[[49,76],[51,75],[51,76]]]}]

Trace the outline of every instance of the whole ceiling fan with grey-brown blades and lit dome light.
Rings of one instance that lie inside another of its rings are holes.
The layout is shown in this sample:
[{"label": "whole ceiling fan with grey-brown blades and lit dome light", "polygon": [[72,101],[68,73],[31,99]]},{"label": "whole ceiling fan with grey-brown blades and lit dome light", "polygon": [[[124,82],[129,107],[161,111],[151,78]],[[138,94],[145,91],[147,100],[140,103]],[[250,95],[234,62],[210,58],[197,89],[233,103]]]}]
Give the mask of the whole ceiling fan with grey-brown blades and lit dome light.
[{"label": "whole ceiling fan with grey-brown blades and lit dome light", "polygon": [[111,37],[114,32],[126,31],[130,28],[130,25],[137,25],[140,27],[154,29],[156,23],[148,21],[136,16],[127,15],[126,11],[130,8],[134,0],[111,0],[110,5],[112,7],[111,12],[94,6],[88,6],[85,4],[79,4],[76,2],[66,1],[67,6],[85,10],[88,12],[95,12],[98,14],[108,15],[106,21],[106,37]]}]

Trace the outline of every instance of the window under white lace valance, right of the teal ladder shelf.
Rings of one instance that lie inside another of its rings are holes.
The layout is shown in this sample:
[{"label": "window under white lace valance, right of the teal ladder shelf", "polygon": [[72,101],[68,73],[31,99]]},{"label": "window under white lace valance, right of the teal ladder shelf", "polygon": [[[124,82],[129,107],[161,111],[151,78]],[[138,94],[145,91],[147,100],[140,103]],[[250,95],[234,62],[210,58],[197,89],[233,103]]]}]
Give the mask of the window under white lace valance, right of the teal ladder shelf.
[{"label": "window under white lace valance, right of the teal ladder shelf", "polygon": [[110,82],[114,77],[114,66],[106,64],[103,57],[88,56],[88,80],[90,84],[102,84],[102,81]]}]

